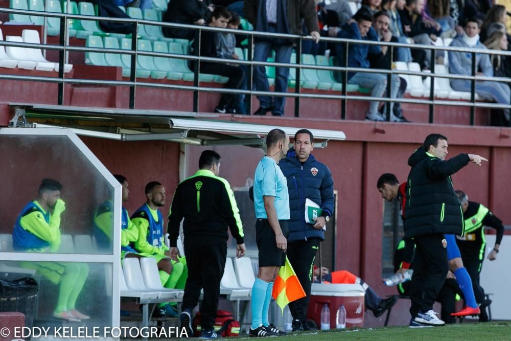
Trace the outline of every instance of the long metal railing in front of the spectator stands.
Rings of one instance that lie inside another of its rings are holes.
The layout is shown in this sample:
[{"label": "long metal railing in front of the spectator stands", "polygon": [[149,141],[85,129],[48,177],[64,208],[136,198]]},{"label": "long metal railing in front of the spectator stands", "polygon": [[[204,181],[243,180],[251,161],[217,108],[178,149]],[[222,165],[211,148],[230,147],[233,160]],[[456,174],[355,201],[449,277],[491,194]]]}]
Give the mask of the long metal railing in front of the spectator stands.
[{"label": "long metal railing in front of the spectator stands", "polygon": [[[511,109],[511,105],[504,104],[496,104],[496,103],[488,103],[488,102],[476,102],[475,100],[475,86],[477,81],[498,81],[509,83],[511,79],[505,77],[486,77],[486,76],[477,76],[477,65],[476,65],[476,55],[477,54],[488,54],[488,55],[500,55],[500,56],[511,56],[511,52],[508,51],[495,51],[495,50],[482,50],[482,49],[467,49],[467,48],[457,48],[457,47],[437,47],[430,45],[421,45],[421,44],[407,44],[407,43],[397,43],[397,42],[383,42],[383,41],[369,41],[369,40],[353,40],[353,39],[340,39],[340,38],[331,38],[331,37],[321,37],[321,41],[333,42],[333,43],[342,43],[344,44],[344,65],[342,66],[323,66],[323,65],[313,65],[313,64],[302,64],[301,63],[301,45],[304,40],[312,40],[310,36],[300,36],[300,35],[292,35],[292,34],[280,34],[280,33],[267,33],[267,32],[258,32],[258,31],[241,31],[241,30],[231,30],[231,29],[220,29],[208,26],[196,26],[196,25],[183,25],[183,24],[172,24],[169,22],[160,22],[160,21],[151,21],[151,20],[141,20],[141,19],[133,19],[133,18],[111,18],[111,17],[98,17],[98,16],[87,16],[87,15],[78,15],[78,14],[69,14],[69,13],[55,13],[55,12],[41,12],[41,11],[28,11],[28,10],[18,10],[18,9],[9,9],[9,8],[0,8],[0,12],[11,13],[11,14],[26,14],[31,16],[43,16],[43,17],[56,17],[60,18],[60,32],[59,32],[59,45],[52,44],[33,44],[33,43],[25,43],[25,42],[12,42],[12,41],[0,41],[0,46],[13,46],[13,47],[25,47],[25,48],[37,48],[44,50],[55,50],[59,52],[59,72],[58,77],[43,77],[43,76],[19,76],[19,75],[6,75],[0,74],[0,79],[9,79],[9,80],[28,80],[28,81],[42,81],[42,82],[54,82],[58,83],[58,105],[64,104],[64,86],[65,84],[87,84],[87,85],[114,85],[114,86],[129,86],[129,108],[135,108],[135,100],[136,100],[136,87],[152,87],[152,88],[165,88],[165,89],[178,89],[178,90],[190,90],[193,92],[193,111],[197,112],[199,108],[199,95],[200,92],[213,92],[213,93],[231,93],[231,94],[245,94],[249,96],[271,96],[271,97],[290,97],[295,101],[294,105],[294,116],[299,117],[300,110],[300,100],[301,99],[330,99],[330,100],[340,100],[341,101],[341,112],[339,113],[340,119],[344,120],[346,118],[346,110],[347,110],[347,101],[348,100],[360,100],[367,101],[369,99],[368,96],[356,96],[356,95],[347,95],[347,84],[348,84],[348,73],[349,72],[364,72],[364,73],[377,73],[377,74],[386,74],[387,75],[387,97],[370,97],[371,101],[379,101],[387,103],[387,112],[390,110],[390,102],[400,102],[400,103],[411,103],[411,104],[420,104],[420,105],[428,105],[429,107],[429,123],[433,123],[434,121],[434,111],[435,106],[437,105],[445,105],[445,106],[463,106],[470,107],[470,125],[474,125],[475,122],[475,109],[476,108],[490,108],[490,109]],[[69,30],[69,19],[79,19],[79,20],[94,20],[94,21],[109,21],[109,22],[128,22],[132,24],[132,33],[131,33],[131,50],[123,50],[123,49],[107,49],[107,48],[92,48],[92,47],[78,47],[71,46],[68,41],[68,30]],[[45,20],[46,22],[46,20]],[[137,32],[139,25],[152,25],[159,27],[168,27],[168,28],[179,28],[179,29],[189,29],[195,31],[195,39],[194,39],[194,54],[173,54],[173,53],[161,53],[161,52],[151,52],[151,51],[141,51],[137,49]],[[204,57],[200,56],[200,40],[202,37],[203,31],[216,31],[223,33],[233,33],[236,35],[244,35],[248,36],[248,53],[247,60],[236,60],[237,64],[241,65],[250,65],[247,67],[247,90],[241,89],[228,89],[228,88],[217,88],[217,87],[203,87],[200,85],[199,81],[199,70],[201,62],[218,62],[218,63],[233,63],[232,59],[224,59],[224,58],[213,58],[213,57]],[[295,43],[295,51],[296,51],[296,63],[278,63],[278,62],[268,62],[268,61],[254,61],[252,58],[252,50],[254,44],[254,38],[257,37],[266,37],[266,38],[280,38],[280,39],[290,39]],[[393,70],[392,64],[389,65],[388,69],[364,69],[357,67],[349,67],[347,65],[347,55],[349,51],[350,44],[366,44],[366,45],[377,45],[377,46],[388,46],[390,49],[387,53],[390,53],[389,60],[392,63],[392,57],[394,53],[394,49],[396,48],[413,48],[413,49],[425,49],[431,50],[431,65],[435,65],[436,60],[436,52],[437,51],[453,51],[453,52],[462,52],[462,53],[470,53],[472,56],[472,67],[471,67],[471,76],[465,75],[456,75],[456,74],[435,74],[434,70],[429,72],[413,72],[413,71],[404,71],[404,70]],[[66,78],[64,73],[64,61],[66,59],[66,54],[69,52],[99,52],[99,53],[113,53],[113,54],[124,54],[129,55],[131,65],[130,65],[130,77],[129,81],[118,81],[118,80],[94,80],[94,79],[77,79],[77,78]],[[185,59],[188,61],[192,61],[194,63],[194,81],[193,85],[181,85],[181,84],[162,84],[162,83],[153,83],[147,81],[139,81],[136,77],[137,70],[137,62],[136,57],[140,56],[148,56],[148,57],[171,57],[171,58],[179,58]],[[253,89],[253,66],[261,65],[261,66],[275,66],[275,67],[292,67],[296,69],[295,76],[295,91],[294,93],[277,93],[277,92],[262,92]],[[342,90],[341,95],[333,95],[333,94],[304,94],[301,92],[301,69],[314,69],[314,70],[328,70],[332,72],[340,72],[342,75]],[[1,70],[1,69],[0,69]],[[399,98],[399,99],[391,99],[390,98],[390,88],[391,88],[391,77],[393,74],[403,74],[403,75],[411,75],[411,76],[421,76],[421,77],[431,77],[430,83],[430,94],[429,99],[409,99],[409,98]],[[437,100],[435,99],[435,82],[434,78],[448,78],[448,79],[461,79],[461,80],[470,80],[471,81],[471,99],[470,101],[457,101],[457,100]],[[248,108],[248,112],[252,112],[251,102]],[[390,120],[390,115],[387,115],[387,120]]]}]

